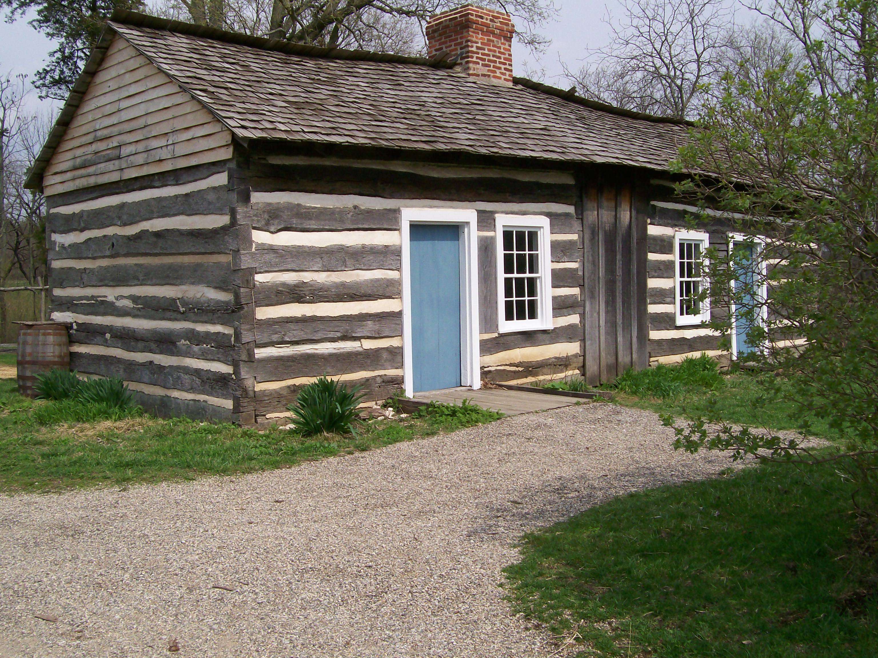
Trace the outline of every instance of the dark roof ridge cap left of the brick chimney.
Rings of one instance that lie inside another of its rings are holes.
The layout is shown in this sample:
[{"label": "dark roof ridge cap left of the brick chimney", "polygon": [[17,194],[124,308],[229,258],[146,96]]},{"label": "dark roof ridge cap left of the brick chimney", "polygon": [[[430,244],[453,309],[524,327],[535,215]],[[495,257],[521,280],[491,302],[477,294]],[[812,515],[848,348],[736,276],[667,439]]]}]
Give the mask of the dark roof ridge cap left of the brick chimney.
[{"label": "dark roof ridge cap left of the brick chimney", "polygon": [[242,34],[241,32],[228,32],[227,30],[220,30],[216,27],[193,25],[191,23],[184,23],[184,21],[180,20],[158,18],[156,16],[148,16],[148,14],[141,14],[138,11],[123,9],[113,10],[109,20],[112,23],[119,23],[121,25],[132,25],[133,27],[147,27],[153,30],[176,32],[177,34],[187,34],[193,37],[213,39],[215,41],[223,41],[238,46],[250,46],[260,50],[298,54],[306,57],[320,57],[331,60],[386,61],[394,64],[415,64],[417,66],[427,66],[432,68],[454,68],[457,65],[457,62],[450,60],[448,54],[443,54],[434,58],[427,58],[378,53],[371,50],[348,50],[346,48],[308,46],[306,44],[284,41],[283,39],[268,39],[266,37],[254,37],[249,34]]}]

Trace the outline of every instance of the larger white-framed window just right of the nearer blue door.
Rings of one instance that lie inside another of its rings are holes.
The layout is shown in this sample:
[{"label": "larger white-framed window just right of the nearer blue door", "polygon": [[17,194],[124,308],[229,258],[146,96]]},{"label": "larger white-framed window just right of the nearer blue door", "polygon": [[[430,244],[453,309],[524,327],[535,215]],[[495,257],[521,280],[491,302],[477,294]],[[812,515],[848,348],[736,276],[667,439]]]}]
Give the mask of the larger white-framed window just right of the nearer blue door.
[{"label": "larger white-framed window just right of the nearer blue door", "polygon": [[497,331],[551,329],[549,218],[497,215]]}]

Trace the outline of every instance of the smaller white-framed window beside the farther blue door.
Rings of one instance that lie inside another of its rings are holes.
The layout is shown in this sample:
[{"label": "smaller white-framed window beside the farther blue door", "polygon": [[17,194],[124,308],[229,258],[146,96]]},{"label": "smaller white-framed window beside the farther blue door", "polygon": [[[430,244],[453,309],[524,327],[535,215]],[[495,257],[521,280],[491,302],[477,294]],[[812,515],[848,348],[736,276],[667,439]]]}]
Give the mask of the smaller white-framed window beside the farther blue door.
[{"label": "smaller white-framed window beside the farther blue door", "polygon": [[710,319],[709,300],[702,298],[707,285],[704,266],[709,235],[702,231],[673,234],[674,315],[677,325],[700,325]]}]

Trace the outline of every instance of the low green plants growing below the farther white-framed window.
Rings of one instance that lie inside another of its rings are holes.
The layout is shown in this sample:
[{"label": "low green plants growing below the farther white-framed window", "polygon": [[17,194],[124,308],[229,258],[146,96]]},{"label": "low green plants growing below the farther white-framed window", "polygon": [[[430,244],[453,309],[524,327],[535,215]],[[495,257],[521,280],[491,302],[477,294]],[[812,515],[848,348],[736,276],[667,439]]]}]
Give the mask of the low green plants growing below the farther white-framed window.
[{"label": "low green plants growing below the farther white-framed window", "polygon": [[693,389],[716,390],[723,386],[723,375],[708,355],[687,357],[680,363],[667,366],[659,363],[654,368],[634,370],[630,368],[619,375],[613,384],[637,397],[680,397]]}]

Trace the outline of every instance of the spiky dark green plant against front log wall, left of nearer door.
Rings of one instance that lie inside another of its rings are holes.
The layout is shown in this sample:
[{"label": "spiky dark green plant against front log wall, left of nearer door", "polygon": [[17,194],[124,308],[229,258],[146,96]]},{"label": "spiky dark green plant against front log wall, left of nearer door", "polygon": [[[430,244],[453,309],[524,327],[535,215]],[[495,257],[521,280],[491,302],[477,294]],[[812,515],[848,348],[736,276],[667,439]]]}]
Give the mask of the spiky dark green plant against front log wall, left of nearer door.
[{"label": "spiky dark green plant against front log wall, left of nearer door", "polygon": [[303,436],[354,431],[356,406],[363,399],[359,386],[348,389],[328,377],[320,377],[299,391],[292,411],[292,425]]}]

